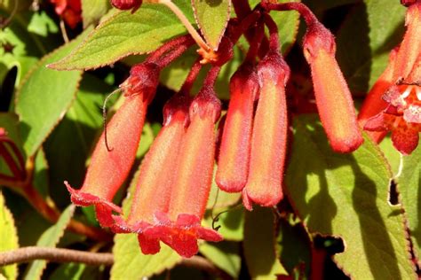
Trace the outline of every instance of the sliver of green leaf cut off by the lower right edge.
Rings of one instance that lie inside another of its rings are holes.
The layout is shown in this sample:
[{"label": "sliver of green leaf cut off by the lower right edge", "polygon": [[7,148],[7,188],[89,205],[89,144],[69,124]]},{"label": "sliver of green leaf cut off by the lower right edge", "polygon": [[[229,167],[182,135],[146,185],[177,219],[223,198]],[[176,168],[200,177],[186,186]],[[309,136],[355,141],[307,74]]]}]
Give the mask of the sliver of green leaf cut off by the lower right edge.
[{"label": "sliver of green leaf cut off by the lower right edge", "polygon": [[402,172],[397,178],[401,203],[409,222],[409,232],[416,255],[421,257],[421,146],[403,156]]}]

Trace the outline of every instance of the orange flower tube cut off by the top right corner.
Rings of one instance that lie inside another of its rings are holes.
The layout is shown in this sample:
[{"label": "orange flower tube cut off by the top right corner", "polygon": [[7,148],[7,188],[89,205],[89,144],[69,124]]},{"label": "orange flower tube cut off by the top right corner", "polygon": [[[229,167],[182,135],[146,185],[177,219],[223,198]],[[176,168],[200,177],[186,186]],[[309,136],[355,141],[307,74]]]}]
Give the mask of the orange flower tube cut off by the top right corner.
[{"label": "orange flower tube cut off by the top right corner", "polygon": [[396,57],[393,82],[408,77],[421,53],[421,1],[409,5],[405,25],[407,31]]}]

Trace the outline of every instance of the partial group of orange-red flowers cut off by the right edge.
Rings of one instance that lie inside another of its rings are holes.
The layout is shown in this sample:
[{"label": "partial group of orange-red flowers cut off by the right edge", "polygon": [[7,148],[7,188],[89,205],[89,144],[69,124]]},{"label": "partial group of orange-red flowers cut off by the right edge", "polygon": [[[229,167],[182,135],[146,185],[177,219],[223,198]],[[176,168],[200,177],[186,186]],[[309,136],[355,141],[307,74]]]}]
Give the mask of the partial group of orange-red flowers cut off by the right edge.
[{"label": "partial group of orange-red flowers cut off by the right edge", "polygon": [[421,1],[402,4],[408,6],[407,31],[369,91],[358,119],[377,143],[392,131],[394,147],[409,154],[417,148],[421,132]]}]

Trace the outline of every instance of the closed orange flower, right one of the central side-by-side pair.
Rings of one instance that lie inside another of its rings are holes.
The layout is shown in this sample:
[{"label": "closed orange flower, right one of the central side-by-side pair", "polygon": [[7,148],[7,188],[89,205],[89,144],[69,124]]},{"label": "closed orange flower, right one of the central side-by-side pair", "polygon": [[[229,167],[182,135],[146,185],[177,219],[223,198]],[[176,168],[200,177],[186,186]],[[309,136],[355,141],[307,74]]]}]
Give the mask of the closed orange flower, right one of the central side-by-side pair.
[{"label": "closed orange flower, right one of the central side-by-side pair", "polygon": [[250,169],[242,190],[243,204],[274,206],[283,197],[282,177],[288,116],[285,85],[290,68],[278,52],[270,52],[258,65],[260,94],[251,138]]}]

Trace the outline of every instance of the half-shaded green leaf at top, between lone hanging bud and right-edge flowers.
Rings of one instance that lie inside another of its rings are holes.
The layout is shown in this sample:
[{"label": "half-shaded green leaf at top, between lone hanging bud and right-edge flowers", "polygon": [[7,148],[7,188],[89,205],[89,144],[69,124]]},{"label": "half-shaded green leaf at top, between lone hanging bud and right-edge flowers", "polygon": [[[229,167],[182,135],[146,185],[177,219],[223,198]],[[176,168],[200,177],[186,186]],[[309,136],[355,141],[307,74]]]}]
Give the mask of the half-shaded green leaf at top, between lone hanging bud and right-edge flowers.
[{"label": "half-shaded green leaf at top, between lone hanging bud and right-edge flowers", "polygon": [[367,92],[384,71],[389,51],[401,41],[404,13],[399,1],[364,0],[346,17],[337,58],[351,91]]}]

